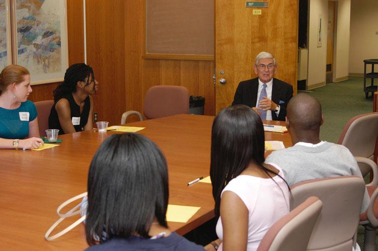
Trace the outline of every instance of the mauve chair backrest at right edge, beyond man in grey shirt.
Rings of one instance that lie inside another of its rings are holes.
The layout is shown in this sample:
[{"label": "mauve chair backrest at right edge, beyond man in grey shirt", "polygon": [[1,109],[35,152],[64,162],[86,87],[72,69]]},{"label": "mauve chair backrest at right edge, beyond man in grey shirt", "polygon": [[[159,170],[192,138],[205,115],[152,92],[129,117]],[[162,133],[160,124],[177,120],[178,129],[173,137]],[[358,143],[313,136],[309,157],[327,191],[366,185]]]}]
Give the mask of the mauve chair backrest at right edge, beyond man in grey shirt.
[{"label": "mauve chair backrest at right edge, beyond man in grey shirt", "polygon": [[[377,140],[378,112],[372,112],[352,117],[346,123],[338,144],[348,148],[355,157],[365,157],[376,161]],[[365,164],[359,164],[359,167],[362,175],[370,171]]]}]

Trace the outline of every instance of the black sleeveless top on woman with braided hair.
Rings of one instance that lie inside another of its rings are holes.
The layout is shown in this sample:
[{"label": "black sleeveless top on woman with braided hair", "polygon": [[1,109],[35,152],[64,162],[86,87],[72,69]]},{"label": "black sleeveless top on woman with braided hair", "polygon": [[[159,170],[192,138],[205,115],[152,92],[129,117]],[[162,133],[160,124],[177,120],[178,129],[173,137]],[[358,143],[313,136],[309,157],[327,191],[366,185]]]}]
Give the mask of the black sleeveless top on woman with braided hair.
[{"label": "black sleeveless top on woman with braided hair", "polygon": [[[75,123],[73,127],[75,128],[76,132],[83,131],[83,127],[85,126],[86,122],[88,121],[89,116],[89,109],[90,109],[90,101],[89,96],[87,96],[84,100],[84,108],[83,111],[80,113],[80,106],[76,104],[75,100],[73,99],[72,93],[66,94],[61,98],[65,98],[68,100],[69,108],[71,110],[71,121],[74,121]],[[60,99],[56,100],[54,105],[51,107],[50,116],[49,116],[49,129],[59,129],[59,135],[65,134],[62,127],[59,123],[59,117],[58,113],[55,109],[55,104]],[[74,119],[72,119],[74,117]],[[78,121],[80,118],[80,121]]]}]

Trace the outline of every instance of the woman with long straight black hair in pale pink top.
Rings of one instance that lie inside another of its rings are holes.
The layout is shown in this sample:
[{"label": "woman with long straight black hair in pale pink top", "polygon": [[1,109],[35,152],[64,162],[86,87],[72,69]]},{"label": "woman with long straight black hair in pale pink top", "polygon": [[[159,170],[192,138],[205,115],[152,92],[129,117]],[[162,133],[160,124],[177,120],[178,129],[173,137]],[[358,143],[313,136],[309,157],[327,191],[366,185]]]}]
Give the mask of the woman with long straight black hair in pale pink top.
[{"label": "woman with long straight black hair in pale pink top", "polygon": [[264,162],[264,143],[262,121],[250,107],[233,105],[215,117],[210,177],[220,250],[256,250],[289,213],[289,187],[281,169]]}]

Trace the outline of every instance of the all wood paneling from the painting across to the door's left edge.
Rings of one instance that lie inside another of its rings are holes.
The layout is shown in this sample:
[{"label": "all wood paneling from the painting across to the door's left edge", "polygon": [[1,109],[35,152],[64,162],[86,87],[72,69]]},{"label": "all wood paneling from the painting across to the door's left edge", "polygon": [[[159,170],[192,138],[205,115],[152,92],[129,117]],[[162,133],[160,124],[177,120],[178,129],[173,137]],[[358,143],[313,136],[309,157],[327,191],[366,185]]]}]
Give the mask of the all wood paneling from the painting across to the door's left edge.
[{"label": "all wood paneling from the painting across to the door's left edge", "polygon": [[[205,114],[215,112],[213,61],[144,59],[144,0],[86,0],[87,63],[99,81],[94,111],[119,124],[126,110],[143,110],[153,85],[181,85],[205,96]],[[84,61],[82,0],[67,0],[69,64]],[[58,83],[33,86],[32,101],[52,99]],[[131,117],[128,121],[133,121]]]}]

